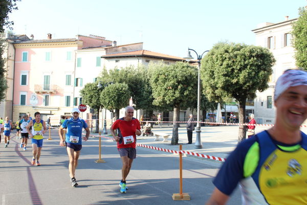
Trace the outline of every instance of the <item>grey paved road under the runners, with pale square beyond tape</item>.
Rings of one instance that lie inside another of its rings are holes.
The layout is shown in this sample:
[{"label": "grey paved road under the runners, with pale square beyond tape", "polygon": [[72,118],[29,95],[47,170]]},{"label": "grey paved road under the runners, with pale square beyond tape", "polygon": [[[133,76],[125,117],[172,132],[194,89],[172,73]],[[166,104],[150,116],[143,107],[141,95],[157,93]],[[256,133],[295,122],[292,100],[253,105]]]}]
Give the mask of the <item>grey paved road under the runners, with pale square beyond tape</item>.
[{"label": "grey paved road under the runners, with pale square beyond tape", "polygon": [[[184,150],[227,157],[234,149],[237,127],[205,127],[202,130],[203,149],[184,145]],[[171,128],[154,128],[153,131],[171,132]],[[172,194],[179,193],[178,155],[137,148],[137,159],[127,178],[129,190],[121,194],[118,183],[122,165],[115,142],[102,139],[102,159],[106,163],[95,163],[98,159],[98,138],[90,138],[83,143],[76,171],[79,186],[72,188],[68,156],[65,148],[58,145],[57,130],[52,130],[52,140],[44,140],[40,167],[30,164],[32,149],[23,151],[18,148],[19,140],[16,140],[14,133],[8,148],[4,148],[4,142],[0,144],[0,197],[3,205],[204,204],[213,190],[212,178],[222,165],[217,161],[184,157],[183,192],[188,193],[191,200],[173,201]],[[186,142],[185,128],[180,128],[179,133],[179,142]],[[193,135],[195,138],[195,133]],[[170,142],[155,141],[154,137],[140,137],[138,142],[179,149],[178,146],[171,146]],[[240,204],[238,190],[228,204]]]}]

